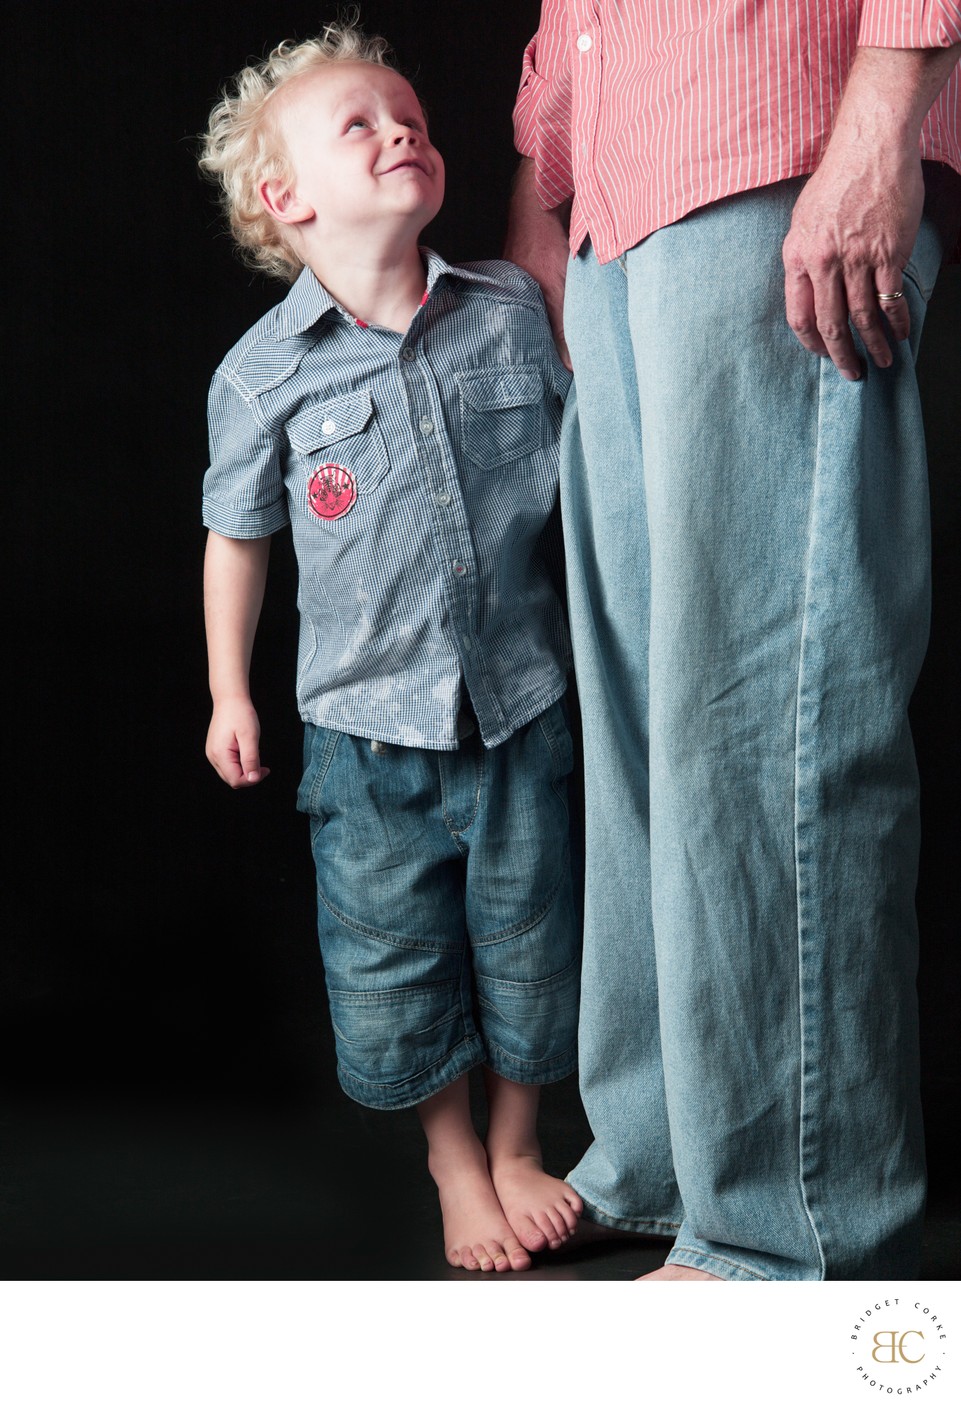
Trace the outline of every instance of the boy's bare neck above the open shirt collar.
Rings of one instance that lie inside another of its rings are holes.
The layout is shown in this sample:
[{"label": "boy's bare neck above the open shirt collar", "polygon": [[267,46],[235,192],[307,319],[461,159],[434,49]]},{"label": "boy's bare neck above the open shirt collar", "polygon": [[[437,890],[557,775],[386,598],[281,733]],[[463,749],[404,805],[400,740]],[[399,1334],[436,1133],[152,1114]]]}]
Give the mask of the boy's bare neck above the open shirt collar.
[{"label": "boy's bare neck above the open shirt collar", "polygon": [[406,333],[427,276],[417,242],[388,251],[326,249],[307,256],[311,272],[342,309],[362,323]]}]

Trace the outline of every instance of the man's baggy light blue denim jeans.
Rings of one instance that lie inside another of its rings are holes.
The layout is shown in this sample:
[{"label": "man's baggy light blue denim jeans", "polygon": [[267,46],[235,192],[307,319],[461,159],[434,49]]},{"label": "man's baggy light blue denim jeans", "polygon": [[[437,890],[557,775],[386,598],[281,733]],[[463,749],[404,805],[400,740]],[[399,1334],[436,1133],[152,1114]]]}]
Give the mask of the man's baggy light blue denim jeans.
[{"label": "man's baggy light blue denim jeans", "polygon": [[585,727],[589,1216],[727,1279],[910,1277],[929,626],[912,340],[796,342],[800,182],[569,268],[562,506]]}]

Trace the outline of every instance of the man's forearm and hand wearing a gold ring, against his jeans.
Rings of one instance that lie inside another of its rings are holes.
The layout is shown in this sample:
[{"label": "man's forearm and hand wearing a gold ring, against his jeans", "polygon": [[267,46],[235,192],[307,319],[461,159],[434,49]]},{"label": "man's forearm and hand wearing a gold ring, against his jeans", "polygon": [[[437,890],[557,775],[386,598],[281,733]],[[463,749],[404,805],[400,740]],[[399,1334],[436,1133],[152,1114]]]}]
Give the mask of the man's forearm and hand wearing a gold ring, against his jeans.
[{"label": "man's forearm and hand wearing a gold ring, against his jeans", "polygon": [[788,323],[851,382],[862,372],[851,324],[878,366],[892,362],[888,334],[910,333],[906,302],[891,294],[902,292],[922,221],[922,123],[960,52],[861,49],[823,161],[795,206],[782,251]]}]

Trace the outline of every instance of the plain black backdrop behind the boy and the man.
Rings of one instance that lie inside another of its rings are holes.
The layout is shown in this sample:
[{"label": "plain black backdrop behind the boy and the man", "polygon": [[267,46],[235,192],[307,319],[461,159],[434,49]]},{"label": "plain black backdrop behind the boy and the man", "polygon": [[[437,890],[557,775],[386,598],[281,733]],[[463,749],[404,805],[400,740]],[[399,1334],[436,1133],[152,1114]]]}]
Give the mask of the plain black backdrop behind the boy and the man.
[{"label": "plain black backdrop behind the boy and the man", "polygon": [[[427,238],[448,258],[500,249],[512,100],[537,8],[362,7],[366,28],[392,39],[445,155],[447,204]],[[300,727],[283,538],[255,666],[273,774],[232,795],[203,757],[206,389],[282,290],[232,255],[193,139],[227,75],[328,15],[265,0],[20,7],[3,149],[14,507],[0,1055],[21,1109],[96,1096],[123,1122],[156,1100],[282,1102],[309,1093],[330,1060],[310,857],[293,807]],[[950,999],[960,317],[953,268],[922,355],[936,586],[913,706],[924,1088],[943,1174],[938,1098],[961,1065]]]}]

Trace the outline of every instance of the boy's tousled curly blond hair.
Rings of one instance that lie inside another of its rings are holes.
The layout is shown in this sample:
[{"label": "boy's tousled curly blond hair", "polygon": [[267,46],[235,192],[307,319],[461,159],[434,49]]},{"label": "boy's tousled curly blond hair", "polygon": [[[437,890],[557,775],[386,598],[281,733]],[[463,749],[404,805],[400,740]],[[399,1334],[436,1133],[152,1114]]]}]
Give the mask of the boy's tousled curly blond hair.
[{"label": "boy's tousled curly blond hair", "polygon": [[262,63],[248,65],[225,85],[200,138],[199,165],[220,186],[220,201],[245,263],[287,283],[303,269],[283,225],[268,214],[259,197],[262,182],[293,179],[283,138],[271,121],[273,96],[290,79],[326,63],[379,63],[392,69],[389,52],[388,41],[365,34],[351,14],[342,23],[324,25],[316,38],[300,44],[283,39]]}]

